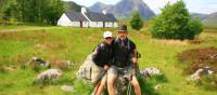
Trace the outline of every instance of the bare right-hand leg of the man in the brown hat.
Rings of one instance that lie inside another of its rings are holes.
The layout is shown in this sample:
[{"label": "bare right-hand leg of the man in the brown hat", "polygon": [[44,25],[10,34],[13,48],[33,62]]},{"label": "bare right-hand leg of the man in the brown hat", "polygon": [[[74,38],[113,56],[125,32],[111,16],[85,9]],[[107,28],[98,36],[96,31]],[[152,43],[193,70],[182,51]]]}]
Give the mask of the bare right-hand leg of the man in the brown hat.
[{"label": "bare right-hand leg of the man in the brown hat", "polygon": [[138,80],[137,80],[137,78],[135,76],[132,77],[131,84],[135,87],[135,94],[136,95],[141,95],[141,89],[140,89],[139,82],[138,82]]}]

